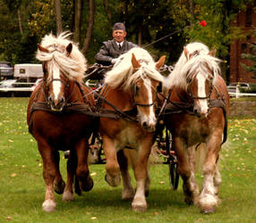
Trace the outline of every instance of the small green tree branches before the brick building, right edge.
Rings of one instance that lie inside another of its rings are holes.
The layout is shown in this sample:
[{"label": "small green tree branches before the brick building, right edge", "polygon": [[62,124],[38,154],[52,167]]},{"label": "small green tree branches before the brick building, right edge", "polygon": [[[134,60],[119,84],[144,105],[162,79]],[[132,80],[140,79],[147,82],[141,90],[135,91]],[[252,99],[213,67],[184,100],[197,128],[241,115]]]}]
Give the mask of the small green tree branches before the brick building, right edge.
[{"label": "small green tree branches before the brick building, right edge", "polygon": [[242,63],[243,68],[247,72],[252,72],[251,78],[256,78],[256,42],[250,45],[250,54],[242,54],[243,59],[249,59],[252,62],[252,65],[245,65]]}]

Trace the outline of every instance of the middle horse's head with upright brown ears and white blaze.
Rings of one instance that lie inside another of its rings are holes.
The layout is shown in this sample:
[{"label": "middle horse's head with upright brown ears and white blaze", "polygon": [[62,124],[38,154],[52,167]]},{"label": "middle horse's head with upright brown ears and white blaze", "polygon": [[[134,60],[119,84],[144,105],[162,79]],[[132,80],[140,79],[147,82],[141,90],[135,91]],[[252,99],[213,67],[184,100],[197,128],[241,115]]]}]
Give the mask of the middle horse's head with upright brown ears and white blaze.
[{"label": "middle horse's head with upright brown ears and white blaze", "polygon": [[[155,71],[162,67],[165,62],[165,56],[162,56],[155,64]],[[161,76],[154,78],[152,70],[141,66],[134,54],[132,54],[133,72],[141,72],[141,75],[133,81],[132,100],[137,107],[138,118],[142,128],[148,132],[156,130],[157,119],[155,115],[155,104],[157,102],[157,93],[161,86]],[[160,77],[160,78],[159,78]]]}]

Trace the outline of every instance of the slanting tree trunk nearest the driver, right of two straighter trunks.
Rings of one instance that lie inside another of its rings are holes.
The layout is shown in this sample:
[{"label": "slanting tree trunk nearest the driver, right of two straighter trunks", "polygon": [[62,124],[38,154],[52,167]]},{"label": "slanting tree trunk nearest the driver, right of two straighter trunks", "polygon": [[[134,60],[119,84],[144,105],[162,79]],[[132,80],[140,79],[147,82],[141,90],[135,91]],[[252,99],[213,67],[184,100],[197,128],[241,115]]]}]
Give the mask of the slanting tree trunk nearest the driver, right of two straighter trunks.
[{"label": "slanting tree trunk nearest the driver, right of two straighter trunks", "polygon": [[95,14],[94,0],[88,0],[88,1],[89,1],[89,21],[88,21],[88,27],[86,30],[86,37],[83,42],[83,48],[82,48],[83,54],[86,54],[89,48],[90,38],[92,36],[92,30],[93,30],[94,14]]}]

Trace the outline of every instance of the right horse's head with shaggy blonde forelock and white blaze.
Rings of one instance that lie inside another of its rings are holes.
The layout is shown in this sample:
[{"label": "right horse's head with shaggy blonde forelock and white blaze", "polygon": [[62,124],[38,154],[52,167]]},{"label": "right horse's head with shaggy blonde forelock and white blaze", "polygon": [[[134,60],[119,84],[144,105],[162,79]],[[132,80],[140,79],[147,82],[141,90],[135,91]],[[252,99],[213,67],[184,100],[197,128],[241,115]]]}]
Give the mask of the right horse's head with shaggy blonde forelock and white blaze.
[{"label": "right horse's head with shaggy blonde forelock and white blaze", "polygon": [[187,92],[193,103],[193,111],[200,117],[207,117],[209,114],[210,95],[219,73],[219,60],[213,57],[214,54],[215,50],[207,55],[198,55],[184,68],[187,69]]}]

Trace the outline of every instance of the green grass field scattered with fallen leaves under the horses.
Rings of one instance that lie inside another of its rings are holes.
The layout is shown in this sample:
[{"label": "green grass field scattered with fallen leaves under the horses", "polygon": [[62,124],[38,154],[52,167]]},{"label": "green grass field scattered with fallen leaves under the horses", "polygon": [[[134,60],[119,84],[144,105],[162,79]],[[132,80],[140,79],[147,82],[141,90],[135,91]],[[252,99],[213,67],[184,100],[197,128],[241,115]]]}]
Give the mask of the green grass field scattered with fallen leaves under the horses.
[{"label": "green grass field scattered with fallen leaves under the horses", "polygon": [[[55,194],[56,211],[45,213],[42,161],[26,124],[28,100],[0,98],[0,222],[256,222],[256,118],[228,122],[228,142],[221,151],[222,203],[214,214],[187,206],[181,181],[177,191],[171,190],[168,167],[162,164],[150,168],[146,212],[133,212],[131,202],[121,200],[122,186],[108,186],[105,167],[91,165],[94,188],[75,195],[73,202]],[[64,159],[61,169],[65,178]]]}]

